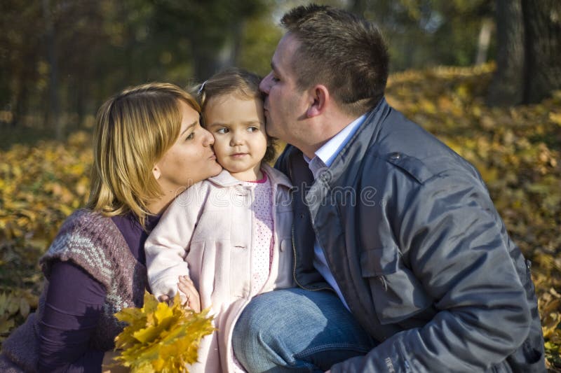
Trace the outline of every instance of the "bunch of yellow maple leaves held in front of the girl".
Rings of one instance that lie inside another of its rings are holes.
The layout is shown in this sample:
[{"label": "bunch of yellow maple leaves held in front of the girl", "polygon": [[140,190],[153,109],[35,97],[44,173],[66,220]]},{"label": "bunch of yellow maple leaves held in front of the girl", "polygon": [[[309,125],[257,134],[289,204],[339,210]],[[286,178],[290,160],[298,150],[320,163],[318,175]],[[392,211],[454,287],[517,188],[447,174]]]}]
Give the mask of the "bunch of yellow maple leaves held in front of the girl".
[{"label": "bunch of yellow maple leaves held in front of the girl", "polygon": [[115,360],[133,373],[188,372],[186,365],[196,363],[201,339],[215,330],[208,311],[184,309],[179,295],[170,306],[145,292],[144,307],[115,314],[128,323],[115,337],[116,349],[123,350]]}]

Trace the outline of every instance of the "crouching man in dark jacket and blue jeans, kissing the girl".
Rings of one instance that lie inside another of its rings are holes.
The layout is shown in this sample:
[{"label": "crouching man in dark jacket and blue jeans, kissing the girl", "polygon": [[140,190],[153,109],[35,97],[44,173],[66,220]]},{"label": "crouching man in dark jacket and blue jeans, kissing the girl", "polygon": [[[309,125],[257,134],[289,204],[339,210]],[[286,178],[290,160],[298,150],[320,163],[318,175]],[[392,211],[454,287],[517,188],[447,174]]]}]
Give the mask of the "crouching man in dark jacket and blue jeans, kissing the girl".
[{"label": "crouching man in dark jacket and blue jeans, kissing the girl", "polygon": [[377,29],[313,5],[281,23],[261,89],[269,134],[291,144],[277,167],[295,185],[299,288],[252,300],[238,360],[250,372],[545,371],[529,262],[471,164],[386,104]]}]

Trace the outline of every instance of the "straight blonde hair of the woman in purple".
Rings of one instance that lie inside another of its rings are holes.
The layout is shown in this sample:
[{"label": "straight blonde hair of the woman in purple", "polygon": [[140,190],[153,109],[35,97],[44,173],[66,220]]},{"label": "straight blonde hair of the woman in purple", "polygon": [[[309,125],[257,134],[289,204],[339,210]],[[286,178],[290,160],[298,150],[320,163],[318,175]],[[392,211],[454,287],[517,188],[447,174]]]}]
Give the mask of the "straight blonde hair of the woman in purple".
[{"label": "straight blonde hair of the woman in purple", "polygon": [[179,101],[201,113],[191,94],[169,83],[128,88],[100,107],[89,209],[105,216],[132,211],[144,226],[147,204],[163,194],[152,169],[180,134]]}]

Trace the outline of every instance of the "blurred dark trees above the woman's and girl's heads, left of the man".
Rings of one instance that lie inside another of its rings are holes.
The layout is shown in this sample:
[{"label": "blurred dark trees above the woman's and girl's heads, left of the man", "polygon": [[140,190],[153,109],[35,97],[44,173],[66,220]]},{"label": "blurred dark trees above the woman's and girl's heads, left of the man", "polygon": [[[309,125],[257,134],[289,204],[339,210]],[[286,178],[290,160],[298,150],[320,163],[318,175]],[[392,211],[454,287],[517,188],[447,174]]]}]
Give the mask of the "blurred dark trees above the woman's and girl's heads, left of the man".
[{"label": "blurred dark trees above the woman's and girl's heads, left of the man", "polygon": [[[103,99],[126,86],[186,87],[245,58],[269,66],[272,0],[60,1],[0,4],[0,125],[74,132]],[[46,43],[53,23],[54,43]],[[257,23],[256,23],[257,22]],[[250,24],[248,26],[248,23]],[[255,29],[254,24],[259,24]],[[276,35],[276,34],[275,34]],[[269,50],[260,54],[254,51]],[[263,71],[261,66],[258,70]],[[53,90],[50,90],[53,87]],[[60,107],[53,120],[53,105]],[[47,127],[47,128],[44,128]],[[2,128],[2,131],[5,129]],[[6,130],[12,131],[9,127]],[[50,131],[50,132],[48,132]],[[45,132],[45,131],[43,131]]]}]

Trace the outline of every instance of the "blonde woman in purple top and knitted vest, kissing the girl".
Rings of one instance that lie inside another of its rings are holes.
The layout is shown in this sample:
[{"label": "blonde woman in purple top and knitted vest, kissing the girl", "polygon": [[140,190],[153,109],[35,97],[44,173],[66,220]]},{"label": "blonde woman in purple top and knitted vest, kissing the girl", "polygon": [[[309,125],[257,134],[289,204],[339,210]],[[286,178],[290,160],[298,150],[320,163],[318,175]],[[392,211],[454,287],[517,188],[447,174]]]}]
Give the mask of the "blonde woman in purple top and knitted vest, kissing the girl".
[{"label": "blonde woman in purple top and knitted vest, kissing the girl", "polygon": [[125,90],[100,108],[87,209],[67,218],[41,258],[39,308],[4,342],[1,372],[100,372],[104,355],[108,362],[123,329],[113,315],[142,307],[147,234],[182,190],[222,170],[200,111],[164,83]]}]

